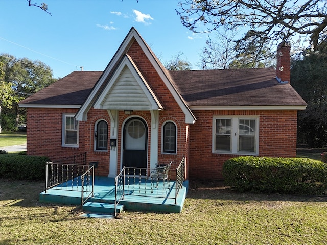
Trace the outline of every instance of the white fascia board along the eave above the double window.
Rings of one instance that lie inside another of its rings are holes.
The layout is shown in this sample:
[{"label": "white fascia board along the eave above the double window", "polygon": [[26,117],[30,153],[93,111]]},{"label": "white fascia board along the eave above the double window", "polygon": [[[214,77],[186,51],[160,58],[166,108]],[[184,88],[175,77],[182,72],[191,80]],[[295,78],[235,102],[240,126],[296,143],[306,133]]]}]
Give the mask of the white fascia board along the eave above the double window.
[{"label": "white fascia board along the eave above the double window", "polygon": [[306,106],[190,106],[191,110],[305,110]]}]

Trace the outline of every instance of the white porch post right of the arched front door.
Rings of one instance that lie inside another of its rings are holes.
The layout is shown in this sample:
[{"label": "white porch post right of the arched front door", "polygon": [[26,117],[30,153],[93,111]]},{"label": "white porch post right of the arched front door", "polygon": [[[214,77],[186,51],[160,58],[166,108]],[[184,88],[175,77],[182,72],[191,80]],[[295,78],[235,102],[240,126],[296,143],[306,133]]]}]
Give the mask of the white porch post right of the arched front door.
[{"label": "white porch post right of the arched front door", "polygon": [[159,111],[151,110],[151,138],[150,138],[150,168],[155,168],[158,162],[159,144]]}]

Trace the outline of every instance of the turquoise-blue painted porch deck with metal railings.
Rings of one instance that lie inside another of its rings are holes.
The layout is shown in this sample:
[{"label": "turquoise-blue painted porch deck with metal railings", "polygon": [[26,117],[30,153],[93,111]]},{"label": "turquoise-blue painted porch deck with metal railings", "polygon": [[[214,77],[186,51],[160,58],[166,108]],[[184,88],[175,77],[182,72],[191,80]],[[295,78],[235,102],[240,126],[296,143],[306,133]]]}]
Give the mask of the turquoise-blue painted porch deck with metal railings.
[{"label": "turquoise-blue painted porch deck with metal railings", "polygon": [[[179,190],[175,204],[175,182],[170,182],[170,188],[164,187],[162,181],[156,187],[156,181],[132,177],[125,180],[125,196],[119,204],[124,205],[124,210],[136,211],[160,211],[166,213],[180,213],[182,211],[186,194],[188,191],[188,181],[184,181],[183,187]],[[80,183],[79,183],[80,185]],[[81,187],[76,183],[63,183],[48,191],[39,194],[41,203],[59,203],[69,205],[81,205]],[[153,191],[151,191],[153,190]],[[166,193],[167,191],[167,193]],[[94,197],[90,197],[88,202],[112,203],[114,204],[115,184],[114,178],[95,177]]]}]

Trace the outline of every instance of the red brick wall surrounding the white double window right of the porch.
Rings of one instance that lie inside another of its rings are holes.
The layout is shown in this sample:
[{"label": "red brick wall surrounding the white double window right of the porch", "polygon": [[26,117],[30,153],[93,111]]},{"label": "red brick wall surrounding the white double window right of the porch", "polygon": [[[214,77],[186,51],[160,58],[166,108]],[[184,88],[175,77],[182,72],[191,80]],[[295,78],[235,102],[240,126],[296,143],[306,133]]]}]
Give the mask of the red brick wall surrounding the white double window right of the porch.
[{"label": "red brick wall surrounding the white double window right of the porch", "polygon": [[190,178],[223,179],[223,163],[239,155],[212,153],[214,115],[259,117],[259,156],[295,157],[297,111],[198,110],[190,125]]}]

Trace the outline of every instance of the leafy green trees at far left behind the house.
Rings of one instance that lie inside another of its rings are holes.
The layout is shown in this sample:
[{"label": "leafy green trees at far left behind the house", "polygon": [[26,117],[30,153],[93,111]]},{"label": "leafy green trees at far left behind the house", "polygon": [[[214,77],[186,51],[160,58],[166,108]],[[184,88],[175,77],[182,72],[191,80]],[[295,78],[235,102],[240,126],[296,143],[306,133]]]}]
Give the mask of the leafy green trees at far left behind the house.
[{"label": "leafy green trees at far left behind the house", "polygon": [[56,81],[43,62],[0,54],[0,132],[26,124],[26,110],[18,102]]}]

